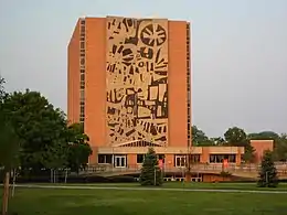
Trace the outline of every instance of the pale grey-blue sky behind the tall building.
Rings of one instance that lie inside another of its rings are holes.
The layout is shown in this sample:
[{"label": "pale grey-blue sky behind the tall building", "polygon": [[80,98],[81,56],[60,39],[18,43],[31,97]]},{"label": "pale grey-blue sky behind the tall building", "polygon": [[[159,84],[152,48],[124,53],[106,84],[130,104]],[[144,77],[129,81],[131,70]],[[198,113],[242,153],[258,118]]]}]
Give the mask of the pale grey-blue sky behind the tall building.
[{"label": "pale grey-blue sky behind the tall building", "polygon": [[67,44],[79,17],[192,23],[192,122],[287,132],[287,0],[0,0],[0,74],[66,111]]}]

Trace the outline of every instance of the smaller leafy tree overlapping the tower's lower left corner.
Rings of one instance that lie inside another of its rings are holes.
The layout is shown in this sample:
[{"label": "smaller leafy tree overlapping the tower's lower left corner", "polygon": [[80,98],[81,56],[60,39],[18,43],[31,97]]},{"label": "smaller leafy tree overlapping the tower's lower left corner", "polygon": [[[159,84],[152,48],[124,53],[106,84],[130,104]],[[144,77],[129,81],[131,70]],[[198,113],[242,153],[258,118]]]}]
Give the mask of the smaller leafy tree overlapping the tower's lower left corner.
[{"label": "smaller leafy tree overlapping the tower's lower left corner", "polygon": [[78,172],[88,163],[88,157],[92,154],[92,148],[88,144],[89,138],[84,133],[81,123],[73,123],[67,127],[66,142],[68,144],[67,166],[72,171]]}]

